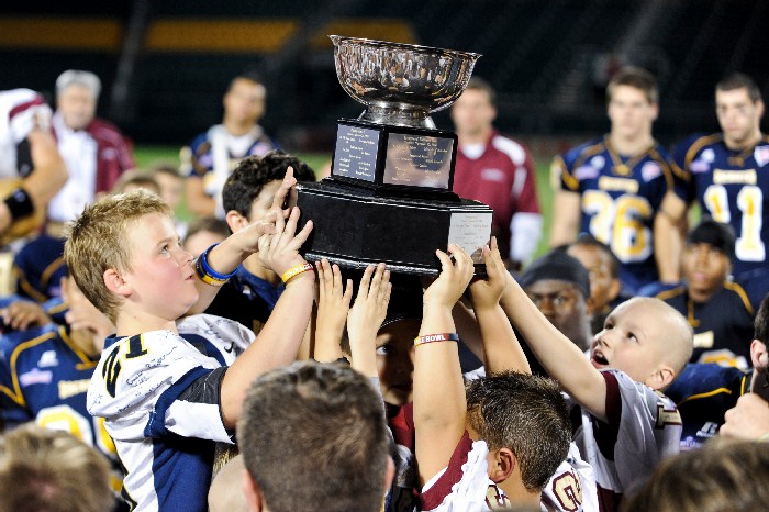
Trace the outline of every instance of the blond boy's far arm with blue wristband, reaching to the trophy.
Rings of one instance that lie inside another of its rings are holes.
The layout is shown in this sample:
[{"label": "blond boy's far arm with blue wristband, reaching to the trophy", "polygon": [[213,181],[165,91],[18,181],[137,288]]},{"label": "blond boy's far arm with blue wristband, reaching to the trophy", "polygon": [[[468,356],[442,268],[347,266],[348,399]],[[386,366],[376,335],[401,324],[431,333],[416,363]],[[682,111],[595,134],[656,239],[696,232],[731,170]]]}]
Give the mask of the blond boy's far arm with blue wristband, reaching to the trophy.
[{"label": "blond boy's far arm with blue wristband, reaching to the trophy", "polygon": [[[259,238],[265,234],[276,232],[277,218],[282,216],[282,219],[286,219],[288,216],[290,210],[283,210],[282,205],[294,185],[297,185],[297,179],[293,177],[293,168],[289,167],[286,170],[286,177],[280,183],[280,188],[275,192],[272,205],[267,214],[244,230],[227,236],[221,244],[209,251],[205,255],[205,261],[209,267],[218,274],[227,275],[235,271],[248,256],[256,253]],[[309,221],[297,236],[307,240],[310,231],[312,231],[312,221]],[[304,240],[302,240],[302,243]],[[188,314],[205,311],[219,291],[219,287],[207,285],[201,279],[196,279],[196,286],[200,297],[198,302],[190,308]]]}]

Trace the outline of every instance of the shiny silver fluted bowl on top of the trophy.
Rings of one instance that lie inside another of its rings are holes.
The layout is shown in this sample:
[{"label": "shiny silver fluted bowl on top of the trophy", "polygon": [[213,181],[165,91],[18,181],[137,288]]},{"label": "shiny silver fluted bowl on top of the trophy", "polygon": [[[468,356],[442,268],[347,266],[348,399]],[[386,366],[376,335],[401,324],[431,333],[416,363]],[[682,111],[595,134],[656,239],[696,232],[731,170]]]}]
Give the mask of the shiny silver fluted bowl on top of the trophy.
[{"label": "shiny silver fluted bowl on top of the trophy", "polygon": [[454,103],[480,54],[331,35],[342,88],[366,105],[358,119],[434,129],[432,112]]}]

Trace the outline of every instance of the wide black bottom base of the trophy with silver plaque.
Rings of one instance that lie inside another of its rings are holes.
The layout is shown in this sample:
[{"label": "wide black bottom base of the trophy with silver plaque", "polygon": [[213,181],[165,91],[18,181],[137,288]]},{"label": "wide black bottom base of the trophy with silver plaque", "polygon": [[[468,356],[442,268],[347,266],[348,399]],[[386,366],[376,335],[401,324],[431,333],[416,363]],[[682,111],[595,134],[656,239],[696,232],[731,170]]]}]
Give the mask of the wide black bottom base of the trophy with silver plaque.
[{"label": "wide black bottom base of the trophy with silver plaque", "polygon": [[297,186],[300,226],[313,221],[302,246],[309,260],[326,258],[347,268],[383,261],[392,271],[435,276],[435,249],[455,243],[472,255],[483,275],[482,247],[491,236],[492,211],[459,201],[382,198],[370,191],[323,180]]}]

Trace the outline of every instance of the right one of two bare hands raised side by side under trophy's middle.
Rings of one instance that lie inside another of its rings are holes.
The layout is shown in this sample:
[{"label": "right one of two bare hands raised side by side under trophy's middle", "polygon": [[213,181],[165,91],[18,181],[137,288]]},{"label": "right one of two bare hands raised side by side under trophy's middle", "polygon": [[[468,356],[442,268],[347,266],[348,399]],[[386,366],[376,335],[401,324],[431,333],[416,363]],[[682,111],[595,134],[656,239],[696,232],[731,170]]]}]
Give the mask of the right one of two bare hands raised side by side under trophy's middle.
[{"label": "right one of two bare hands raised side by side under trophy's middle", "polygon": [[[380,263],[374,270],[368,266],[360,278],[358,297],[347,314],[347,334],[352,366],[366,377],[378,377],[377,332],[387,316],[390,302],[390,271]],[[374,277],[371,277],[374,275]]]}]

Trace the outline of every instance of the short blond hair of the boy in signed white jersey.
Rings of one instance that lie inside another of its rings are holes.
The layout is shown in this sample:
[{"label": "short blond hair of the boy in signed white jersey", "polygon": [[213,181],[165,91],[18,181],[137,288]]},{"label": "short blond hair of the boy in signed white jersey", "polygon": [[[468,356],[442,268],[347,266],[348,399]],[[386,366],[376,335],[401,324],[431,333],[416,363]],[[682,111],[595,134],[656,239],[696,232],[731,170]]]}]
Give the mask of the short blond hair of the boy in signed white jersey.
[{"label": "short blond hair of the boy in signed white jersey", "polygon": [[113,323],[121,300],[104,283],[108,269],[131,271],[127,233],[151,213],[172,216],[170,207],[147,190],[107,197],[67,225],[64,261],[88,300]]}]

